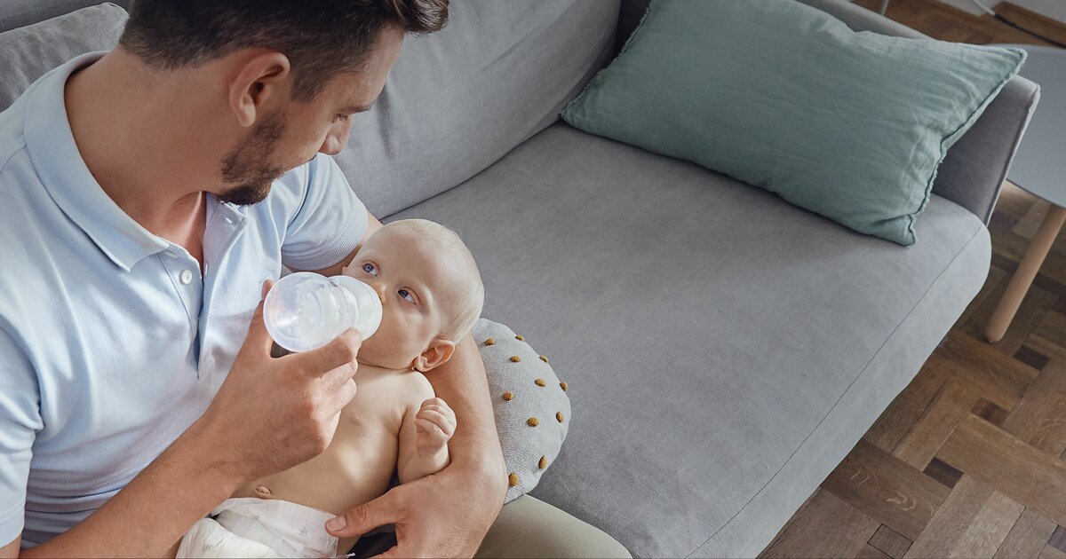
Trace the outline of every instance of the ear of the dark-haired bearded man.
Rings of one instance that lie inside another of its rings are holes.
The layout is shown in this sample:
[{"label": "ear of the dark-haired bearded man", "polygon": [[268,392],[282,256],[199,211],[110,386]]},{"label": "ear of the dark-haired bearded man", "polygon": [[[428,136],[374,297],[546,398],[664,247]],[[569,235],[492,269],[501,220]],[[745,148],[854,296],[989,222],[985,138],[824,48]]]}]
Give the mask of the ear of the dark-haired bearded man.
[{"label": "ear of the dark-haired bearded man", "polygon": [[286,99],[291,81],[289,57],[266,52],[245,59],[229,82],[229,108],[244,128],[262,116],[268,103],[279,105]]}]

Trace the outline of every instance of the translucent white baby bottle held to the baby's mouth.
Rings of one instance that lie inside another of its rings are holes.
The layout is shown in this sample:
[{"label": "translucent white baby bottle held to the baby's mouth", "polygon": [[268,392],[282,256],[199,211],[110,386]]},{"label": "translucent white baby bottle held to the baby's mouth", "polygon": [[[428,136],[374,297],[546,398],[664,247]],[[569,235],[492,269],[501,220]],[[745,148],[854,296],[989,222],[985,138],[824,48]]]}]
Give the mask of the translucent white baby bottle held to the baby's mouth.
[{"label": "translucent white baby bottle held to the baby's mouth", "polygon": [[266,294],[263,322],[279,346],[310,351],[349,328],[359,330],[364,340],[374,335],[382,324],[382,300],[355,278],[297,272],[278,280]]}]

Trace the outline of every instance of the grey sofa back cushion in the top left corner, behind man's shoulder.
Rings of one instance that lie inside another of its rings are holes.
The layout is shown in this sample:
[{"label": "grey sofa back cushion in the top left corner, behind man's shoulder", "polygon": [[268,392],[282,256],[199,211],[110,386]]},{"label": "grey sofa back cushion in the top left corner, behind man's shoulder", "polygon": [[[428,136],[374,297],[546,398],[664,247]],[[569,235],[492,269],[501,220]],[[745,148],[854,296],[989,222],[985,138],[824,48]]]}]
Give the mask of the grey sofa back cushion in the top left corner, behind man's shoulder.
[{"label": "grey sofa back cushion in the top left corner, behind man's shoulder", "polygon": [[106,3],[0,33],[0,111],[48,70],[79,54],[111,49],[125,24],[126,11]]}]

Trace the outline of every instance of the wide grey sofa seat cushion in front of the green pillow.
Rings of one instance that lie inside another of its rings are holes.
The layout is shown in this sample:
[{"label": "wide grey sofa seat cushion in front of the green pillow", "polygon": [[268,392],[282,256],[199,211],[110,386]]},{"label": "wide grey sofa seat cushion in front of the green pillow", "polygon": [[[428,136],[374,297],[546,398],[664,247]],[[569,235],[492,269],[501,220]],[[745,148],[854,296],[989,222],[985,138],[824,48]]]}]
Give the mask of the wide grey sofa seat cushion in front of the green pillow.
[{"label": "wide grey sofa seat cushion in front of the green pillow", "polygon": [[910,381],[988,270],[937,196],[910,248],[697,165],[537,134],[395,216],[456,229],[484,316],[580,414],[532,495],[636,556],[755,556]]}]

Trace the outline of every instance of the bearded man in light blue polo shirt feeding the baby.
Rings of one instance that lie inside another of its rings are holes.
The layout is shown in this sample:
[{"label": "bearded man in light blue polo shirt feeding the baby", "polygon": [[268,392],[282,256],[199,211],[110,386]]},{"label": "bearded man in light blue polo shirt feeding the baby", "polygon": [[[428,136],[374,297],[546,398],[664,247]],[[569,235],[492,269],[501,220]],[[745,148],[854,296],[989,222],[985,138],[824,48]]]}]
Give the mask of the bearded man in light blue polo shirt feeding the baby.
[{"label": "bearded man in light blue polo shirt feeding the baby", "polygon": [[[236,488],[328,446],[358,334],[273,359],[261,298],[381,227],[327,155],[446,2],[143,0],[118,48],[0,113],[0,557],[172,555]],[[451,465],[330,531],[394,524],[398,556],[469,556],[490,526],[482,553],[625,556],[530,497],[496,520],[469,336],[440,368]]]}]

